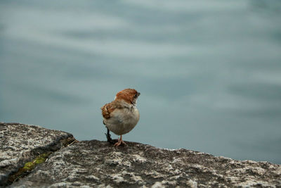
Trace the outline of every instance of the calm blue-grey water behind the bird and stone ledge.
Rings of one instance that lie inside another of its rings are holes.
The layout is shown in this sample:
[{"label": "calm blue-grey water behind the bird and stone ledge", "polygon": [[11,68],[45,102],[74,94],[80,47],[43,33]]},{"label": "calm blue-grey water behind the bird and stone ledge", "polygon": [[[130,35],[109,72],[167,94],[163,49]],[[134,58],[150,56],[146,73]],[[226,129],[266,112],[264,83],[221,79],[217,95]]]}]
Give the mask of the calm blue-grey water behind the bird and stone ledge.
[{"label": "calm blue-grey water behind the bird and stone ledge", "polygon": [[131,87],[141,120],[125,141],[281,163],[280,10],[278,0],[2,0],[0,121],[105,140],[100,107]]}]

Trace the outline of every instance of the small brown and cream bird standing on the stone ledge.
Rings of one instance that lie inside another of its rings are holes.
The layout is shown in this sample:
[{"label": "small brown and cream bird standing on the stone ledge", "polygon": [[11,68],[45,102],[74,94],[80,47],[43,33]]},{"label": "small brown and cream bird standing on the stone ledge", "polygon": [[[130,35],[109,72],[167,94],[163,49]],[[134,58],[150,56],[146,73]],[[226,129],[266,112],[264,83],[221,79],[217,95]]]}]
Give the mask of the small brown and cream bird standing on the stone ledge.
[{"label": "small brown and cream bird standing on the stone ledge", "polygon": [[136,108],[140,94],[136,89],[123,89],[116,94],[114,101],[100,108],[103,115],[103,124],[107,127],[107,141],[112,142],[110,131],[120,136],[114,144],[116,147],[126,144],[122,140],[122,135],[133,130],[140,119],[140,113]]}]

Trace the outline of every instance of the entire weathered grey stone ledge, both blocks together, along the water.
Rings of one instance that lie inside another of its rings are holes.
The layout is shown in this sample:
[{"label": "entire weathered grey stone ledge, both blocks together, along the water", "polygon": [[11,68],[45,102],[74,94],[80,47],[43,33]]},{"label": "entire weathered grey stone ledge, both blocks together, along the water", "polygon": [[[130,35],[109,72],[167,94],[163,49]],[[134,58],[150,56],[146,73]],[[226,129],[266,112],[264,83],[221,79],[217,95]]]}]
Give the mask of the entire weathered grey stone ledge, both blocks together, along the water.
[{"label": "entire weathered grey stone ledge, both blocks together, along the water", "polygon": [[17,123],[0,123],[0,139],[2,186],[32,166],[11,187],[281,187],[281,165],[268,162],[134,142],[73,142],[72,134]]}]

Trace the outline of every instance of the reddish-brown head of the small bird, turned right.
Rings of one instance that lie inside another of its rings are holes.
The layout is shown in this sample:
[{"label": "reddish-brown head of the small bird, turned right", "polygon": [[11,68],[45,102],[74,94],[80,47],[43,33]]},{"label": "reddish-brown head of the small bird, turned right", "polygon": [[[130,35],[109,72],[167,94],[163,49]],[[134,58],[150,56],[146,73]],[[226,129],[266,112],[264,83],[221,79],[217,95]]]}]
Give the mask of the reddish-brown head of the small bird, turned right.
[{"label": "reddish-brown head of the small bird, turned right", "polygon": [[136,99],[140,96],[141,93],[137,92],[136,89],[124,89],[121,92],[118,92],[115,96],[116,100],[124,100],[129,104],[136,104]]}]

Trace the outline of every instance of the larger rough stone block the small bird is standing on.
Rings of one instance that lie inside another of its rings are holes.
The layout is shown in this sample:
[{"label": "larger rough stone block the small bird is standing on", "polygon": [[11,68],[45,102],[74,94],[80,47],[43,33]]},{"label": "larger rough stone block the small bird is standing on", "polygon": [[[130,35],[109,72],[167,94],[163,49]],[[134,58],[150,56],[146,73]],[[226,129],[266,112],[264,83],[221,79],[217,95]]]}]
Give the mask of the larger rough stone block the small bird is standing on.
[{"label": "larger rough stone block the small bird is standing on", "polygon": [[281,165],[126,143],[72,144],[13,187],[281,187]]}]

